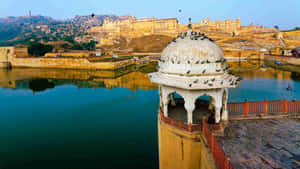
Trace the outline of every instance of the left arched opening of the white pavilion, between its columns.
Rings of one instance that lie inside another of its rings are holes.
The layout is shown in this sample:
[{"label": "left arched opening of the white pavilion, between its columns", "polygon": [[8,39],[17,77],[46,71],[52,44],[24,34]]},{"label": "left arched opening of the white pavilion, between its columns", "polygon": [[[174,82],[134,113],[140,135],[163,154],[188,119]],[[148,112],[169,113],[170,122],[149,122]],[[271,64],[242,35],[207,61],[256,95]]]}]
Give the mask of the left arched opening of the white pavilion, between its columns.
[{"label": "left arched opening of the white pavilion, between its columns", "polygon": [[184,98],[177,92],[168,95],[168,117],[187,123],[187,112],[184,108]]}]

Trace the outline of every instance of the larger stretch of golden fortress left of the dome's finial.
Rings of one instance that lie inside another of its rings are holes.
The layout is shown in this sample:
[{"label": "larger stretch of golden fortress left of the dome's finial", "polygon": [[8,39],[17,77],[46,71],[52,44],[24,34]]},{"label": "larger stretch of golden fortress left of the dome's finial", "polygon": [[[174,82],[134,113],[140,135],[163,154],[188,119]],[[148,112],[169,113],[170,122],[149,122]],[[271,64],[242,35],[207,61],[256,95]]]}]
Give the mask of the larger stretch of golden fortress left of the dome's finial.
[{"label": "larger stretch of golden fortress left of the dome's finial", "polygon": [[121,36],[127,38],[142,37],[147,35],[176,36],[178,29],[184,29],[184,25],[178,23],[176,18],[155,19],[131,17],[125,20],[111,21],[105,19],[102,26],[92,27],[89,33],[100,44],[112,45],[114,39]]}]

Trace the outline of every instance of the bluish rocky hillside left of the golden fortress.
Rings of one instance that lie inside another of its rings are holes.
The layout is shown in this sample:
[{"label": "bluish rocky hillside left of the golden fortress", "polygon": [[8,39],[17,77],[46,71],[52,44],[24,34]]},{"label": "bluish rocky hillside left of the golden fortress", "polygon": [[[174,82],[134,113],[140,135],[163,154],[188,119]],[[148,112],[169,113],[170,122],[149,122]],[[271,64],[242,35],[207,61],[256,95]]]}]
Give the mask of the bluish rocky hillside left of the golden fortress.
[{"label": "bluish rocky hillside left of the golden fortress", "polygon": [[95,15],[75,16],[68,20],[56,20],[47,16],[21,16],[0,18],[0,46],[62,40],[87,34],[92,26],[99,26],[105,18],[123,20],[129,16]]}]

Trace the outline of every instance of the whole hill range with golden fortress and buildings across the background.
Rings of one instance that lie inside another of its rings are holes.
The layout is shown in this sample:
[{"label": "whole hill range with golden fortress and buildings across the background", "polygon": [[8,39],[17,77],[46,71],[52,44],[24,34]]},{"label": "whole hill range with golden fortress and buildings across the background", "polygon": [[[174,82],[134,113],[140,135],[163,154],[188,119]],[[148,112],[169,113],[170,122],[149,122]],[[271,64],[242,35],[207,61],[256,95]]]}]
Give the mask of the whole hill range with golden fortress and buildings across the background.
[{"label": "whole hill range with golden fortress and buildings across the background", "polygon": [[[204,18],[191,26],[194,32],[205,33],[213,39],[225,53],[290,50],[300,45],[300,30],[242,25],[240,18],[225,21]],[[92,14],[57,20],[29,13],[28,16],[0,18],[0,46],[26,47],[38,42],[62,51],[94,50],[97,43],[97,47],[108,53],[161,52],[168,42],[187,30],[188,25],[179,23],[176,18]]]}]

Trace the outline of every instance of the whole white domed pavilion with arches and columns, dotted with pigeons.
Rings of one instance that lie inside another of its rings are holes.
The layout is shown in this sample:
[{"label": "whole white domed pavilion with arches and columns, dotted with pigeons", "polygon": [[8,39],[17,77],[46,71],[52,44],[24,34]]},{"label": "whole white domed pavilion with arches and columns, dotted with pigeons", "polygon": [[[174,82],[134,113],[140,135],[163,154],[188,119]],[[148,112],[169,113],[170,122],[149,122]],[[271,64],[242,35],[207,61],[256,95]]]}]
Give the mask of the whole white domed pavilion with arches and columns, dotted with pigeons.
[{"label": "whole white domed pavilion with arches and columns, dotted with pigeons", "polygon": [[[241,78],[227,73],[223,51],[213,40],[189,30],[163,50],[158,69],[149,78],[159,84],[159,106],[164,117],[175,112],[172,117],[197,124],[204,113],[210,112],[215,123],[228,119],[228,88],[237,87]],[[209,99],[201,101],[200,96]]]}]

